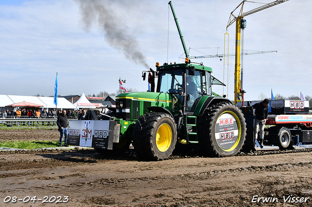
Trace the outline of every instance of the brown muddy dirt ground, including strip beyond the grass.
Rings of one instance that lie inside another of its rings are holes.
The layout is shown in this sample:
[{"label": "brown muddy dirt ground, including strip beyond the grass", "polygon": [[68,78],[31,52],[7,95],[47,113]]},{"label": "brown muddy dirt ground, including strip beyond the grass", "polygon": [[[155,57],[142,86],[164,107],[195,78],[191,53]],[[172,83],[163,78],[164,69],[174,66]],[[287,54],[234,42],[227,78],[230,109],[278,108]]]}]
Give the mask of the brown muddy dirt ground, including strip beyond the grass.
[{"label": "brown muddy dirt ground, including strip beyond the grass", "polygon": [[[58,136],[57,130],[0,129],[0,140]],[[312,206],[312,152],[175,154],[158,162],[140,161],[132,151],[106,157],[80,148],[0,152],[0,195],[5,207]],[[34,196],[35,203],[26,202]]]}]

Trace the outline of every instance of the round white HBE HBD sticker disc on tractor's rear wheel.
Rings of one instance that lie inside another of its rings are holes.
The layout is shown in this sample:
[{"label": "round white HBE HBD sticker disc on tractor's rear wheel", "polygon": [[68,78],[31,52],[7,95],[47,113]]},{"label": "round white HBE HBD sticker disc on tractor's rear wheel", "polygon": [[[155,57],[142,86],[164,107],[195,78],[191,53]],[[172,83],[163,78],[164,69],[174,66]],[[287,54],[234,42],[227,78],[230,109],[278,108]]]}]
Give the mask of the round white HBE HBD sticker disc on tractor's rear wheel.
[{"label": "round white HBE HBD sticker disc on tractor's rear wheel", "polygon": [[[238,119],[237,119],[238,120]],[[238,142],[239,129],[235,117],[230,113],[223,113],[215,124],[215,140],[224,151],[231,151]]]}]

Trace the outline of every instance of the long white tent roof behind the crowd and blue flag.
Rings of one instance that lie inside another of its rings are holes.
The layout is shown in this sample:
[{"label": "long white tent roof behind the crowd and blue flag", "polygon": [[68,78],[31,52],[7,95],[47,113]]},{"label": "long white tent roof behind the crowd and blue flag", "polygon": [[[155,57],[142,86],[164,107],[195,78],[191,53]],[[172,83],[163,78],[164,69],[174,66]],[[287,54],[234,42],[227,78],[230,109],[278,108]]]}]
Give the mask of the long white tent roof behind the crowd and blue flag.
[{"label": "long white tent roof behind the crowd and blue flag", "polygon": [[[5,107],[6,105],[16,104],[23,101],[43,105],[43,108],[56,108],[55,104],[53,103],[54,97],[0,95],[0,107]],[[65,98],[58,98],[57,108],[74,109],[76,106],[67,101]]]}]

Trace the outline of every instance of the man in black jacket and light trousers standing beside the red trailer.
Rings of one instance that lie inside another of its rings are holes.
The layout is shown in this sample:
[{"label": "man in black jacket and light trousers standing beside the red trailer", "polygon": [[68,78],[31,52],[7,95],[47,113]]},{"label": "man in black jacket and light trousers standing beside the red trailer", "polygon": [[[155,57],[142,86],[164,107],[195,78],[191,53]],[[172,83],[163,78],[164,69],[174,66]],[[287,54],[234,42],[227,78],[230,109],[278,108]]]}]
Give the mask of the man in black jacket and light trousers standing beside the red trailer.
[{"label": "man in black jacket and light trousers standing beside the red trailer", "polygon": [[265,122],[268,119],[268,112],[269,112],[269,103],[270,101],[268,99],[263,100],[260,103],[252,105],[255,109],[255,121],[254,121],[254,137],[258,140],[258,131],[260,127],[260,139],[258,140],[260,142],[261,148],[263,147],[263,131]]}]

